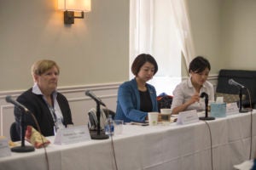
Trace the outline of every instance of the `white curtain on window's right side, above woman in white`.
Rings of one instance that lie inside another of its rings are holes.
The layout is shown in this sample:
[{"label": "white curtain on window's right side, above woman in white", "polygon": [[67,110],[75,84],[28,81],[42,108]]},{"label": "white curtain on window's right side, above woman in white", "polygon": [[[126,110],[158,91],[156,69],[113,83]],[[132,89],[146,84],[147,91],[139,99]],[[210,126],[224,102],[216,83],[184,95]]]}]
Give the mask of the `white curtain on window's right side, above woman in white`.
[{"label": "white curtain on window's right side, above woman in white", "polygon": [[195,57],[195,47],[191,33],[189,8],[187,0],[170,0],[172,12],[177,26],[177,39],[183,52],[187,69],[189,62]]}]

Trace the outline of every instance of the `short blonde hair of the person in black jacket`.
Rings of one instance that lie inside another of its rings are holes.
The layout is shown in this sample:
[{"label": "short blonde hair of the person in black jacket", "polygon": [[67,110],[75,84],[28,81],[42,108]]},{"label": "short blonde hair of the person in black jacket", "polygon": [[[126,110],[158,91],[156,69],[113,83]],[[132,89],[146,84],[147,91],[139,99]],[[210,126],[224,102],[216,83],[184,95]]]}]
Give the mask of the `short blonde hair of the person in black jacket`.
[{"label": "short blonde hair of the person in black jacket", "polygon": [[32,65],[32,68],[31,68],[32,76],[33,75],[41,76],[42,74],[44,74],[44,72],[48,71],[54,66],[57,68],[58,74],[60,74],[60,67],[55,63],[55,61],[49,60],[49,59],[38,60]]}]

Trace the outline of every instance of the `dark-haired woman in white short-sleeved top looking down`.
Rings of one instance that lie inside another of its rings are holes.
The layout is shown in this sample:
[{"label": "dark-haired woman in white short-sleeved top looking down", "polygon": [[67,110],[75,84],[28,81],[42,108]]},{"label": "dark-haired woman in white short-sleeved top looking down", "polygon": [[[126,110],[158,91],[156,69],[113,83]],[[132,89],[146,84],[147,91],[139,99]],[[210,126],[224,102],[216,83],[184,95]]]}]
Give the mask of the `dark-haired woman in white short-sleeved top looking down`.
[{"label": "dark-haired woman in white short-sleeved top looking down", "polygon": [[208,94],[208,99],[214,100],[214,89],[207,77],[211,65],[207,59],[198,56],[189,64],[189,78],[180,84],[173,91],[172,114],[181,111],[205,109],[205,100],[200,98],[202,92]]}]

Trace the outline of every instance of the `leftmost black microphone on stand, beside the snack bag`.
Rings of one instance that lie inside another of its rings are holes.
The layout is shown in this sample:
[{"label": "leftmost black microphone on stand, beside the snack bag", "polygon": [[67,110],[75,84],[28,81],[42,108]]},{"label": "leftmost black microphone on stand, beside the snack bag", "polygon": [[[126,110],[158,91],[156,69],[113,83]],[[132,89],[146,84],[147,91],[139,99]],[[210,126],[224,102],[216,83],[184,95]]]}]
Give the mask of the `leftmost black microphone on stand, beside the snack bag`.
[{"label": "leftmost black microphone on stand, beside the snack bag", "polygon": [[[11,96],[6,96],[5,100],[6,100],[6,102],[15,105],[16,107],[23,110],[24,112],[30,113],[30,111],[24,105],[21,105],[19,102],[12,99]],[[21,145],[11,148],[11,150],[14,151],[14,152],[31,152],[31,151],[35,150],[34,147],[25,145],[25,132],[26,132],[26,130],[25,130],[25,117],[24,117],[25,113],[23,111],[21,111],[21,114],[20,114],[20,141],[21,141]]]}]

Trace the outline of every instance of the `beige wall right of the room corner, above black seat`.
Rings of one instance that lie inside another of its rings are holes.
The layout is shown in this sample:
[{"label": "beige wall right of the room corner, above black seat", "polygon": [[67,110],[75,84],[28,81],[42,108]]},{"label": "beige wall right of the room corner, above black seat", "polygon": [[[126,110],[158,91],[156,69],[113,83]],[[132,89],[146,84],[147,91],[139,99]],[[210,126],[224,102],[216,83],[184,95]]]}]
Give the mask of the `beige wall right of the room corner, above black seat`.
[{"label": "beige wall right of the room corner, above black seat", "polygon": [[256,1],[225,0],[222,55],[229,69],[256,70]]}]

